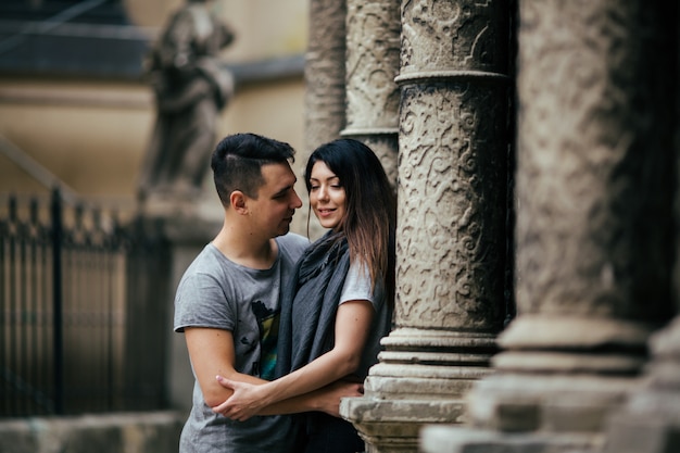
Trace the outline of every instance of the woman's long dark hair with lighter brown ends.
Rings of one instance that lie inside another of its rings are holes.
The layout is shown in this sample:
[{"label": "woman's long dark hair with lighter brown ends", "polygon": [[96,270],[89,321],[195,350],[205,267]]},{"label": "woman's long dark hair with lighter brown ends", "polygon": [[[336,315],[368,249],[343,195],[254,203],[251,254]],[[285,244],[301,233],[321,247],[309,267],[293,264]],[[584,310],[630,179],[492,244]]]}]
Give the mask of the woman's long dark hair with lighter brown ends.
[{"label": "woman's long dark hair with lighter brown ends", "polygon": [[385,279],[388,301],[393,304],[396,197],[380,160],[357,140],[322,144],[307,161],[307,193],[312,167],[319,161],[338,176],[345,192],[345,214],[336,228],[338,239],[347,238],[352,262],[368,266],[374,286],[379,276]]}]

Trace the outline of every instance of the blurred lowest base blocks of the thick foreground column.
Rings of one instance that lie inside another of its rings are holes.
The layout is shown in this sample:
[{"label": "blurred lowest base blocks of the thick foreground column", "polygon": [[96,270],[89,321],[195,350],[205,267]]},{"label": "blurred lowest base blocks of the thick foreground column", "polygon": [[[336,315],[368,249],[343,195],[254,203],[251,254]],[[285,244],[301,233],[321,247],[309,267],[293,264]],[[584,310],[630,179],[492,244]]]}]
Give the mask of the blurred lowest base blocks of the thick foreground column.
[{"label": "blurred lowest base blocks of the thick foreground column", "polygon": [[493,375],[468,394],[470,427],[424,427],[419,451],[601,452],[607,420],[638,385],[630,377]]}]

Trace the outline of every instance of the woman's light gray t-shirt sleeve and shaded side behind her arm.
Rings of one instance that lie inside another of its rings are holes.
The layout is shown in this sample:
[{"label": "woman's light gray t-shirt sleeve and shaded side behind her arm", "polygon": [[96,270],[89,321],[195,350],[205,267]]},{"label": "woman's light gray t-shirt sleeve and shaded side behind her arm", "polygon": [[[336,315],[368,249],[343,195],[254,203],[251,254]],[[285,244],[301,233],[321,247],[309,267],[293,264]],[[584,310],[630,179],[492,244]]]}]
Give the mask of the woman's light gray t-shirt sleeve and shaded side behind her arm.
[{"label": "woman's light gray t-shirt sleeve and shaded side behind her arm", "polygon": [[368,375],[368,369],[378,363],[380,339],[387,337],[392,327],[392,310],[387,303],[387,293],[382,279],[380,278],[376,281],[376,286],[372,291],[368,267],[354,262],[350,264],[338,304],[342,305],[348,301],[368,301],[374,309],[374,316],[362,353],[362,361],[355,372],[356,376],[363,380]]}]

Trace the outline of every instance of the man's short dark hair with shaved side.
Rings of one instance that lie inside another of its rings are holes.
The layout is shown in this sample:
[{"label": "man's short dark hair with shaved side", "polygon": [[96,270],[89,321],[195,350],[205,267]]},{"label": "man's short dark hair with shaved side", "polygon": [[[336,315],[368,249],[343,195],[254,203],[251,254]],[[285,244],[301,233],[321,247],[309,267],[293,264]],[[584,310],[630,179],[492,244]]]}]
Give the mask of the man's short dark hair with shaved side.
[{"label": "man's short dark hair with shaved side", "polygon": [[295,151],[282,141],[256,134],[235,134],[217,143],[211,160],[215,189],[222,204],[229,205],[229,196],[240,190],[257,198],[264,184],[262,166],[294,161]]}]

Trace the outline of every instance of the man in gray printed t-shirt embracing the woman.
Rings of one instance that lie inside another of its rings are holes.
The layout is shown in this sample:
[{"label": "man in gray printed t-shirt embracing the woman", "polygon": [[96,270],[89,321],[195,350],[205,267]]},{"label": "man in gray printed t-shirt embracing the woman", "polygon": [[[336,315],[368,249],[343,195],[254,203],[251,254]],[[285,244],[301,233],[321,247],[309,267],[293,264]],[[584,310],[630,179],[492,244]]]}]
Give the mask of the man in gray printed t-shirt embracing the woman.
[{"label": "man in gray printed t-shirt embracing the woman", "polygon": [[[186,270],[175,298],[175,330],[185,334],[196,377],[180,453],[293,451],[287,416],[239,423],[211,410],[231,394],[217,375],[253,383],[273,377],[281,286],[308,246],[289,232],[302,205],[289,164],[293,154],[289,144],[254,134],[226,137],[213,152],[224,224]],[[282,401],[267,413],[337,414],[340,395],[358,395],[357,390],[333,387]]]}]

